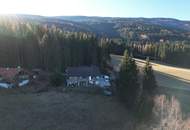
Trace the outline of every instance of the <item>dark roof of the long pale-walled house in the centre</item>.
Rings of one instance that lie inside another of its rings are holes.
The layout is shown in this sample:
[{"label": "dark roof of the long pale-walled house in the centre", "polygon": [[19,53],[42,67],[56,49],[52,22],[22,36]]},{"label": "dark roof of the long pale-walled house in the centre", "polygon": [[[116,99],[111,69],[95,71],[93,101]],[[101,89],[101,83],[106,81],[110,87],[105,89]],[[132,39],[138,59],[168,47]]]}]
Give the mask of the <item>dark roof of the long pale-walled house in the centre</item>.
[{"label": "dark roof of the long pale-walled house in the centre", "polygon": [[66,69],[66,74],[68,76],[81,76],[81,77],[88,77],[88,76],[99,76],[100,71],[99,68],[96,66],[80,66],[80,67],[68,67]]}]

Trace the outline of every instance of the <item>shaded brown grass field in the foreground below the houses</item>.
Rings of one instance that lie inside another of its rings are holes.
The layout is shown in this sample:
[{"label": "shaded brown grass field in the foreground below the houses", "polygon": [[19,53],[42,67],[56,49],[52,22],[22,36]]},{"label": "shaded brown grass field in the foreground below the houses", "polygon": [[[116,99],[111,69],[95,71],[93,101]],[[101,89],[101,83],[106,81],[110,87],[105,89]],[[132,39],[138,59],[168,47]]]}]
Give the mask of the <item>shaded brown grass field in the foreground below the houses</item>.
[{"label": "shaded brown grass field in the foreground below the houses", "polygon": [[126,130],[132,118],[115,97],[79,91],[0,95],[2,130]]}]

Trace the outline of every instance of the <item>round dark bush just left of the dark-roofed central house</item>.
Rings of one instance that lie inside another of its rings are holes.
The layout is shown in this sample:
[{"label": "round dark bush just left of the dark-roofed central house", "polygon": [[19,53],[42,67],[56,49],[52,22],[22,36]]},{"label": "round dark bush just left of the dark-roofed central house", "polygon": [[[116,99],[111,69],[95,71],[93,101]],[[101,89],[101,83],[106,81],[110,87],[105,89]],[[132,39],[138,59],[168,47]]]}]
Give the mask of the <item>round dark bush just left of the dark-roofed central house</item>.
[{"label": "round dark bush just left of the dark-roofed central house", "polygon": [[53,73],[51,76],[50,76],[50,83],[51,85],[53,86],[60,86],[64,83],[64,76],[61,74],[61,73]]}]

